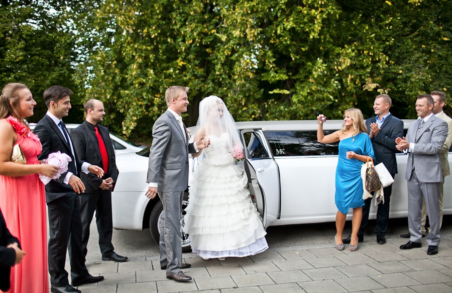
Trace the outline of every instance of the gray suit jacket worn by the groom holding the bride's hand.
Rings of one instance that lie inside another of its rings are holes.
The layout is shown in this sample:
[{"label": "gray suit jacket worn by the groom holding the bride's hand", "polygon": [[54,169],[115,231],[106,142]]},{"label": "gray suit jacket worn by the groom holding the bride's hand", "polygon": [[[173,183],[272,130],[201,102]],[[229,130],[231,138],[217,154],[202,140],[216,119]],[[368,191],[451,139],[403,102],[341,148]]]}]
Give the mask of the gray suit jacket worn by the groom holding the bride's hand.
[{"label": "gray suit jacket worn by the groom holding the bride's hand", "polygon": [[183,133],[174,115],[166,111],[154,123],[152,136],[147,182],[157,182],[162,192],[187,189],[188,152],[195,152],[193,143],[185,143],[187,132]]}]

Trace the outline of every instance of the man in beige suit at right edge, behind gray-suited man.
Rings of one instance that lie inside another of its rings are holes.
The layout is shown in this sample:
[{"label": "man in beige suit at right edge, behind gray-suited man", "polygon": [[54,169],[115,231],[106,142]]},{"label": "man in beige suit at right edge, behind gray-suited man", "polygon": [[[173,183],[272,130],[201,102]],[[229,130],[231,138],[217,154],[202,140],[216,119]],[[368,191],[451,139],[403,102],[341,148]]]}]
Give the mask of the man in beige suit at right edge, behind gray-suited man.
[{"label": "man in beige suit at right edge, behind gray-suited man", "polygon": [[[433,101],[435,102],[433,104],[433,114],[441,118],[447,123],[447,137],[444,141],[444,145],[441,148],[441,151],[439,152],[439,156],[441,159],[441,172],[442,172],[442,182],[441,182],[441,194],[439,195],[439,228],[441,228],[442,224],[442,209],[443,209],[443,203],[442,203],[442,197],[443,197],[443,185],[444,185],[444,178],[447,175],[450,175],[449,170],[449,162],[447,158],[447,154],[449,152],[450,144],[452,143],[452,119],[445,115],[445,113],[442,111],[442,107],[444,107],[445,104],[445,94],[443,92],[437,92],[433,91],[431,92],[430,96],[433,98]],[[425,205],[425,199],[424,203],[422,205],[422,222],[421,222],[421,231],[422,234],[425,235],[425,221],[427,219],[427,206]]]}]

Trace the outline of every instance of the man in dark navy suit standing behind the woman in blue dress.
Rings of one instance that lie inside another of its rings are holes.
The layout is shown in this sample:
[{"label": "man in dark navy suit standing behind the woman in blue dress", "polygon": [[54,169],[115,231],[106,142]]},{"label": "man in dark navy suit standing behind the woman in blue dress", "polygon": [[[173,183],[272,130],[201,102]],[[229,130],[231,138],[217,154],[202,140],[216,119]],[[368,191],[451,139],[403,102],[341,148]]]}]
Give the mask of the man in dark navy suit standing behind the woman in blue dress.
[{"label": "man in dark navy suit standing behind the woman in blue dress", "polygon": [[[367,133],[372,140],[375,158],[378,163],[385,164],[392,178],[397,173],[397,161],[395,154],[398,152],[395,139],[403,136],[403,121],[392,116],[389,112],[391,108],[391,98],[388,95],[378,95],[374,101],[374,111],[376,117],[366,120]],[[376,163],[377,163],[376,162]],[[384,202],[378,204],[377,220],[375,223],[375,234],[377,235],[377,243],[386,243],[385,235],[389,221],[389,200],[391,197],[392,185],[383,188]],[[364,231],[369,221],[369,210],[372,198],[365,200],[363,206],[363,219],[358,231],[358,240],[364,241]],[[343,239],[344,243],[350,243],[350,237]]]}]

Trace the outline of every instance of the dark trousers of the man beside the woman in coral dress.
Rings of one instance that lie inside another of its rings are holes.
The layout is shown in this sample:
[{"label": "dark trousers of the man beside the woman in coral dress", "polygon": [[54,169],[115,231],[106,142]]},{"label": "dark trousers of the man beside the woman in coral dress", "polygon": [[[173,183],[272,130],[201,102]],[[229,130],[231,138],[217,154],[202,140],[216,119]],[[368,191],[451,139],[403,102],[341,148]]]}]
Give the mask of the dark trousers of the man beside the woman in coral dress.
[{"label": "dark trousers of the man beside the woman in coral dress", "polygon": [[81,247],[82,224],[78,195],[70,193],[47,203],[49,212],[49,272],[52,286],[69,284],[64,269],[69,250],[71,279],[77,281],[89,275]]}]

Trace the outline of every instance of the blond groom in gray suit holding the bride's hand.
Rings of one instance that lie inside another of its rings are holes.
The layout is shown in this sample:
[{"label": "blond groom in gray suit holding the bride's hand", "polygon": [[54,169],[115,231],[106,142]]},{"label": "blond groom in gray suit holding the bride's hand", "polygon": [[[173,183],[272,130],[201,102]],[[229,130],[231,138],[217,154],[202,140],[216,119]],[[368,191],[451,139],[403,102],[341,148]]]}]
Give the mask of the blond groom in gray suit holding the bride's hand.
[{"label": "blond groom in gray suit holding the bride's hand", "polygon": [[166,269],[166,277],[176,281],[188,281],[181,268],[182,263],[180,217],[182,199],[188,186],[188,153],[197,153],[210,143],[201,137],[188,143],[188,133],[180,116],[187,112],[188,87],[172,86],[166,90],[168,110],[160,116],[152,128],[152,146],[149,155],[146,196],[155,198],[157,191],[163,203],[163,225],[160,232],[160,267]]}]

